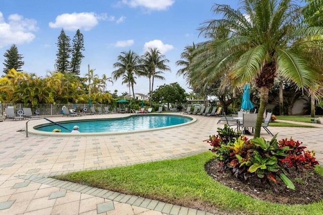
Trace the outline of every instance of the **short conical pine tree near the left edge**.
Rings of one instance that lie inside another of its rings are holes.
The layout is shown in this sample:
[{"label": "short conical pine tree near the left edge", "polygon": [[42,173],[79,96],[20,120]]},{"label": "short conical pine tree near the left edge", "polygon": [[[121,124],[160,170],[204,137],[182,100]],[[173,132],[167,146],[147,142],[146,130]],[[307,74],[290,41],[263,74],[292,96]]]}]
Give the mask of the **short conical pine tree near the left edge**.
[{"label": "short conical pine tree near the left edge", "polygon": [[6,51],[4,54],[5,62],[3,63],[5,65],[4,67],[4,73],[7,74],[8,71],[12,68],[16,69],[16,71],[22,71],[21,67],[25,64],[24,61],[22,61],[22,58],[24,58],[21,54],[18,52],[17,46],[14,44]]}]

